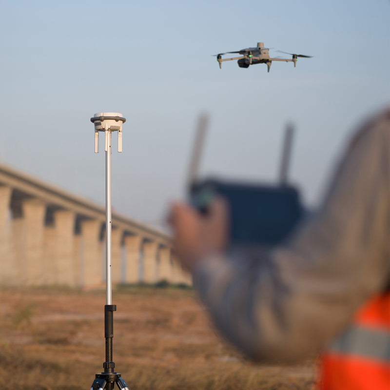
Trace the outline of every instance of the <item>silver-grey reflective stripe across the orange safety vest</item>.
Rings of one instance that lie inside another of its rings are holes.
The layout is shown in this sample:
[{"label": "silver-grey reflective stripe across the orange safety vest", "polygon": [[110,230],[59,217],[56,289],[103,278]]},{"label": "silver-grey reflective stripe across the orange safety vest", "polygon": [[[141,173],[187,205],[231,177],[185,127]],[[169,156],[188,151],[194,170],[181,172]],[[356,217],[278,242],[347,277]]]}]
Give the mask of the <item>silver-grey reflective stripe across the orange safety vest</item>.
[{"label": "silver-grey reflective stripe across the orange safety vest", "polygon": [[335,340],[328,350],[390,362],[390,332],[354,326]]}]

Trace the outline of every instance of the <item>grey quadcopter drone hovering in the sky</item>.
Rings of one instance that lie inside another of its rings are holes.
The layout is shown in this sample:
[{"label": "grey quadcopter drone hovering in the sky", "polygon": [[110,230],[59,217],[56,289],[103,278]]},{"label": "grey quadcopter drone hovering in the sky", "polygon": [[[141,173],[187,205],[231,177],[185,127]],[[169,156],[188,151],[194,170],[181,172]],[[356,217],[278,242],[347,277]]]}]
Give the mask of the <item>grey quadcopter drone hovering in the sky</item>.
[{"label": "grey quadcopter drone hovering in the sky", "polygon": [[[290,54],[292,56],[292,59],[270,58],[270,54],[268,51],[269,49],[267,47],[264,47],[263,42],[257,42],[257,47],[248,47],[247,49],[238,50],[236,52],[219,53],[219,54],[215,54],[215,57],[219,63],[219,69],[222,68],[223,61],[232,61],[234,59],[237,59],[238,66],[240,68],[249,68],[249,65],[254,65],[254,64],[267,64],[268,72],[270,71],[272,61],[293,62],[295,68],[298,57],[312,58],[312,56],[304,56],[303,54],[292,54],[292,53],[282,52],[281,50],[278,50],[278,52],[284,54]],[[234,58],[224,58],[224,59],[222,58],[222,56],[225,54],[233,54],[233,53],[238,53],[241,54],[242,56],[234,57]]]}]

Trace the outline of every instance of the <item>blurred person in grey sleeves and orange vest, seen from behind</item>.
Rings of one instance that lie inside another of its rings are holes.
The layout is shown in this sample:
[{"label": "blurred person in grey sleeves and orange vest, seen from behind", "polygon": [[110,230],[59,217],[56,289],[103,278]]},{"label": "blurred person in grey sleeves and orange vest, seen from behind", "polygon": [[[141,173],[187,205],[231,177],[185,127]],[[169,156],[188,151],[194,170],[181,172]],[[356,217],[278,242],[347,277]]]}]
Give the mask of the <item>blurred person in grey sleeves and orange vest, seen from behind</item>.
[{"label": "blurred person in grey sleeves and orange vest, seen from behind", "polygon": [[245,355],[320,354],[321,389],[390,389],[390,110],[352,137],[321,206],[282,245],[229,245],[221,198],[207,215],[176,202],[169,221],[215,326]]}]

